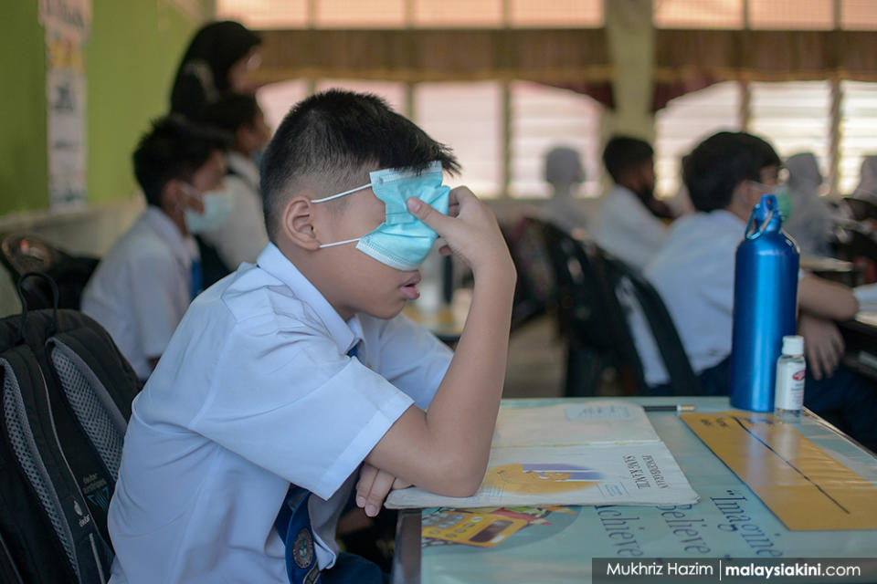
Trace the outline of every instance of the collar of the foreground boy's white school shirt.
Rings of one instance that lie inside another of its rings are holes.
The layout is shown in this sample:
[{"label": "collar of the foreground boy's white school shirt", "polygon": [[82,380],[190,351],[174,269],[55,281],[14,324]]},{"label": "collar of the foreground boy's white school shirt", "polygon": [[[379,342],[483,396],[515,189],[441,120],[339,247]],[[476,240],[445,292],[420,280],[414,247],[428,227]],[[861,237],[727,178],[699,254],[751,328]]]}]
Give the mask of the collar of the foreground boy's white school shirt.
[{"label": "collar of the foreground boy's white school shirt", "polygon": [[290,287],[296,297],[313,308],[322,323],[329,329],[329,334],[339,351],[347,353],[363,339],[359,317],[354,315],[353,318],[344,322],[343,318],[329,304],[329,301],[322,296],[320,290],[301,274],[299,268],[286,255],[283,255],[277,245],[269,243],[259,254],[256,264]]}]

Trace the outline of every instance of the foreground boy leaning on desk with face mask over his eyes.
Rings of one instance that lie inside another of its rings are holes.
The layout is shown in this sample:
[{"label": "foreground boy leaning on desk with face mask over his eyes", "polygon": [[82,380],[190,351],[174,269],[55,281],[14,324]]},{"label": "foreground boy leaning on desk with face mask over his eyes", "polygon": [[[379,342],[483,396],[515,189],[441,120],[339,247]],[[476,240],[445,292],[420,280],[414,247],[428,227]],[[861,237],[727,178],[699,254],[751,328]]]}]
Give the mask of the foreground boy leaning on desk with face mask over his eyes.
[{"label": "foreground boy leaning on desk with face mask over his eyes", "polygon": [[[456,167],[374,96],[291,110],[262,165],[271,243],[195,300],[133,403],[112,582],[381,581],[333,542],[361,464],[369,516],[393,485],[478,488],[515,274],[487,207],[446,198]],[[475,278],[453,356],[399,315],[432,230]]]}]

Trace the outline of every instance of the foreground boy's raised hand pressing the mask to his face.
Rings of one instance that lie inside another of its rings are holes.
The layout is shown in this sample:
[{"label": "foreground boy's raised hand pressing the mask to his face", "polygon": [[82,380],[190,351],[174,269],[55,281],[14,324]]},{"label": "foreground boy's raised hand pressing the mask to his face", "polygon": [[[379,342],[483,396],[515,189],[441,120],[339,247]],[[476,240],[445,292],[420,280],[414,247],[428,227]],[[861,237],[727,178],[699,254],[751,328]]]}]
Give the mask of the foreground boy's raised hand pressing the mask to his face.
[{"label": "foreground boy's raised hand pressing the mask to his face", "polygon": [[[444,237],[450,250],[472,268],[504,269],[514,273],[512,256],[491,210],[472,192],[460,186],[450,192],[448,214],[440,214],[416,198],[408,199],[408,211]],[[442,248],[442,253],[449,252]]]}]

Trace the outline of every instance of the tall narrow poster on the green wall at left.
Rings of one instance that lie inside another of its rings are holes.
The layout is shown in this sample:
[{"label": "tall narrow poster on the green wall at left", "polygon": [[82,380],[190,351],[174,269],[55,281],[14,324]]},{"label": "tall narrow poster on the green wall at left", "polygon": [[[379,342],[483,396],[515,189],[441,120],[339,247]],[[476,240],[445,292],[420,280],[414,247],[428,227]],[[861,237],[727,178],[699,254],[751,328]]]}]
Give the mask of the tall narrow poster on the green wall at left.
[{"label": "tall narrow poster on the green wall at left", "polygon": [[85,43],[91,0],[40,0],[46,30],[48,193],[52,210],[85,204]]}]

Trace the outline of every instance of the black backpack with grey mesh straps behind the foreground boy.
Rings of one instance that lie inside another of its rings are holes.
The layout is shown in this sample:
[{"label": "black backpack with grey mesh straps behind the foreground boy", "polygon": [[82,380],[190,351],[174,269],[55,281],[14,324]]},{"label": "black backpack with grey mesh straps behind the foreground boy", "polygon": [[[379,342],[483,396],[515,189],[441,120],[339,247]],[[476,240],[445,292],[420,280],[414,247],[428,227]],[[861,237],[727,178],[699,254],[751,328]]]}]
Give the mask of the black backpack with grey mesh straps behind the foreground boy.
[{"label": "black backpack with grey mesh straps behind the foreground boy", "polygon": [[0,578],[106,582],[107,511],[140,382],[94,320],[28,312],[28,276],[22,314],[0,319]]}]

